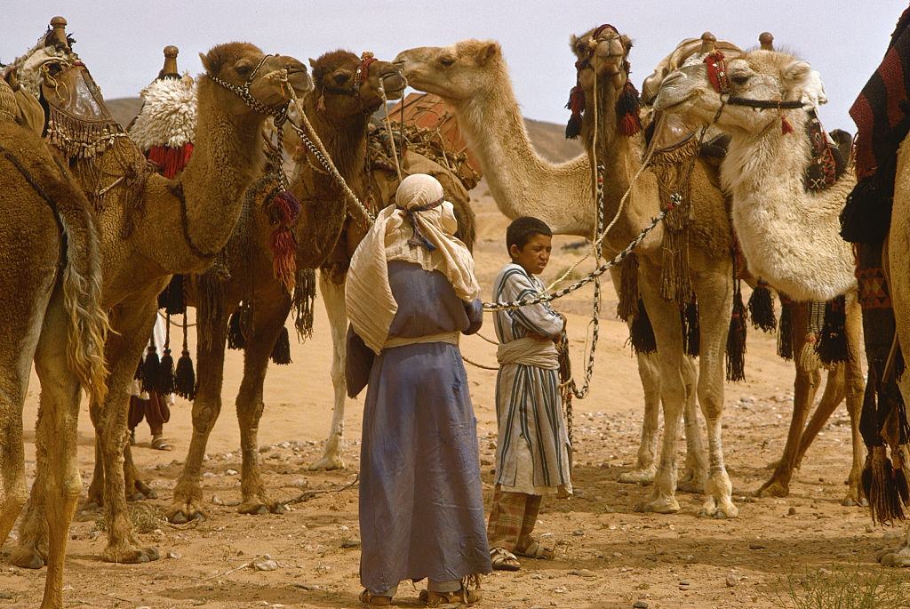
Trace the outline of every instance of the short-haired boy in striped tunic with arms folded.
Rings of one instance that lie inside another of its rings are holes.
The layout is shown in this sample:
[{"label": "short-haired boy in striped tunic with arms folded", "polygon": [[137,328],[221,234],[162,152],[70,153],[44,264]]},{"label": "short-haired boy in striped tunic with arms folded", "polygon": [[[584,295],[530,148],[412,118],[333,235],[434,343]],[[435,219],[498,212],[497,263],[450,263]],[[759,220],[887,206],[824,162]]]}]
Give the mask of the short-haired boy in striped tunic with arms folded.
[{"label": "short-haired boy in striped tunic with arms folded", "polygon": [[[493,300],[541,294],[539,275],[550,261],[552,231],[538,218],[516,218],[506,229],[511,263],[500,271]],[[556,346],[565,318],[547,303],[497,311],[496,489],[487,537],[494,569],[517,571],[515,554],[551,560],[553,549],[531,537],[542,495],[571,494],[569,438],[562,416]]]}]

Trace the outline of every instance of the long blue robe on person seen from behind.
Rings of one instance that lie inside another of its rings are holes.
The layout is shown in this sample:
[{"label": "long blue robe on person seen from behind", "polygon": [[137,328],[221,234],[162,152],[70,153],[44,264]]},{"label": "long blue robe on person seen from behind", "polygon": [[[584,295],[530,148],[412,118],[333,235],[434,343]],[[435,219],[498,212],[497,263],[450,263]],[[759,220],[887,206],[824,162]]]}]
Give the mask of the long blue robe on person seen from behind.
[{"label": "long blue robe on person seen from behind", "polygon": [[[463,302],[438,271],[389,262],[399,310],[389,338],[480,330],[480,300]],[[490,573],[477,419],[457,345],[411,344],[374,356],[348,332],[353,397],[369,383],[360,448],[360,582]]]}]

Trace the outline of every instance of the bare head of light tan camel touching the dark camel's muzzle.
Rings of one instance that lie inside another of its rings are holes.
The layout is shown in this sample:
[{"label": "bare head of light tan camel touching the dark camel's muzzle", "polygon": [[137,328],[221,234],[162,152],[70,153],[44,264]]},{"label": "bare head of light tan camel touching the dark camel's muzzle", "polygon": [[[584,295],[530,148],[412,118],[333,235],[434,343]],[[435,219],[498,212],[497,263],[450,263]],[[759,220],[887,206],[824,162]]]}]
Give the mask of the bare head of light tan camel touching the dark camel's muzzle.
[{"label": "bare head of light tan camel touching the dark camel's muzzle", "polygon": [[[401,51],[395,62],[410,86],[447,101],[467,101],[500,84],[502,49],[495,40],[462,40],[451,46]],[[499,68],[499,69],[490,69]]]}]

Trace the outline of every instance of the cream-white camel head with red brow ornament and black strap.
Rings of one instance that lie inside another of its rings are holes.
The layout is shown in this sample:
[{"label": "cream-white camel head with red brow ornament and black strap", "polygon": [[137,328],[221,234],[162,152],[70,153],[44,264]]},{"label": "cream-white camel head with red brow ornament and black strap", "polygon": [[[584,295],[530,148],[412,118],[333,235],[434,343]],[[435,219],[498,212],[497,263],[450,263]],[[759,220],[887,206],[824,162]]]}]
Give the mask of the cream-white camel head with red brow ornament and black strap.
[{"label": "cream-white camel head with red brow ornament and black strap", "polygon": [[824,98],[820,86],[809,64],[786,53],[759,49],[719,61],[709,55],[666,76],[654,107],[733,137],[758,136],[775,124],[785,132],[782,117]]}]

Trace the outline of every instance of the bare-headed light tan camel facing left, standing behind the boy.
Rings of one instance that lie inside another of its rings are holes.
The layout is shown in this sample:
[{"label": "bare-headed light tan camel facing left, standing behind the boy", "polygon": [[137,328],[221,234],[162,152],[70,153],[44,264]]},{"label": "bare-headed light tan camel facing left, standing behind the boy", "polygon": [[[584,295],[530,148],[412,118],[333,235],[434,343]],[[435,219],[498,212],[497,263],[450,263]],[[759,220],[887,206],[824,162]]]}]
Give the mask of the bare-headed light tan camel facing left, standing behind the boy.
[{"label": "bare-headed light tan camel facing left, standing behind the boy", "polygon": [[[557,234],[591,238],[594,234],[594,200],[591,197],[591,163],[580,155],[552,164],[537,154],[521,117],[501,48],[493,41],[464,40],[452,46],[424,46],[399,53],[410,86],[445,99],[454,110],[461,133],[480,160],[496,205],[508,218],[535,216]],[[611,272],[619,292],[618,269]],[[660,377],[657,358],[639,354],[638,370],[644,389],[644,424],[638,458],[620,482],[651,482],[656,472],[657,421],[660,411]],[[695,382],[695,369],[687,360],[685,383]],[[686,403],[687,473],[683,480],[704,479],[705,459],[695,411],[694,391]]]}]

